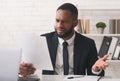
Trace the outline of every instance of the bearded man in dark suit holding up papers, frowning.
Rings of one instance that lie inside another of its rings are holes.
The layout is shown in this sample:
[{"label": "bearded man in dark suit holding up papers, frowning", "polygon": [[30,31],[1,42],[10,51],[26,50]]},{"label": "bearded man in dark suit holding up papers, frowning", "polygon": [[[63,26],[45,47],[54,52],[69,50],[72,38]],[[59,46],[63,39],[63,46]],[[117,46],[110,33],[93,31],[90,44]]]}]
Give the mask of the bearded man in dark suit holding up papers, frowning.
[{"label": "bearded man in dark suit holding up papers, frowning", "polygon": [[[71,3],[61,5],[56,11],[55,32],[46,36],[50,58],[54,71],[43,71],[43,74],[64,74],[63,42],[68,43],[68,74],[75,75],[104,75],[104,69],[108,66],[105,62],[108,55],[97,58],[95,43],[74,31],[78,24],[77,8]],[[27,76],[33,74],[35,67],[32,64],[22,63],[20,74]]]}]

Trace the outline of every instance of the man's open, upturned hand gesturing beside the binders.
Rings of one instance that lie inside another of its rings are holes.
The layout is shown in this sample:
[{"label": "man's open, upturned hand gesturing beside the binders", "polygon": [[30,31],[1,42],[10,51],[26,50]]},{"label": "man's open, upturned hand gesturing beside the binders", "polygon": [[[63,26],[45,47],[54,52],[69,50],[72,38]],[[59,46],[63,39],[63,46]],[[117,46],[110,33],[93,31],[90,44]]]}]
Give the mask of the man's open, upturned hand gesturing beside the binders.
[{"label": "man's open, upturned hand gesturing beside the binders", "polygon": [[92,70],[95,72],[99,72],[102,69],[105,69],[106,67],[108,67],[108,63],[106,62],[107,58],[109,57],[109,55],[104,55],[104,57],[99,58],[95,64],[92,67]]}]

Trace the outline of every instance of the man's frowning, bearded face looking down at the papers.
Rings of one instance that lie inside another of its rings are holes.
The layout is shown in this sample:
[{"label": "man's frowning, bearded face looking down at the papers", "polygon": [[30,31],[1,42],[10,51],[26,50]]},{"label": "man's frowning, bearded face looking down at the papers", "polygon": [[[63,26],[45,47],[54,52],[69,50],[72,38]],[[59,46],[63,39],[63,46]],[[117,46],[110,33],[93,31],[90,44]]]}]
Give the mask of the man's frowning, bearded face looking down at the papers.
[{"label": "man's frowning, bearded face looking down at the papers", "polygon": [[76,20],[68,10],[58,10],[56,12],[55,31],[61,38],[70,38],[73,35]]}]

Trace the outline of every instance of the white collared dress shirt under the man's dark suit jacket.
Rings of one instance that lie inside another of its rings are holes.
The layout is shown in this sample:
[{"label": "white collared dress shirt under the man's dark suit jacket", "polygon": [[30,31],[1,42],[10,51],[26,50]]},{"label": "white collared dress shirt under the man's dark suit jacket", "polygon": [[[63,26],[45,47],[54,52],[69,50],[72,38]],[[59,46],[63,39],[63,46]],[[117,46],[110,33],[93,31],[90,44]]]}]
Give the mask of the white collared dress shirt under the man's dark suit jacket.
[{"label": "white collared dress shirt under the man's dark suit jacket", "polygon": [[[73,75],[73,48],[74,48],[74,39],[75,39],[75,33],[74,35],[69,39],[66,40],[68,43],[68,58],[69,58],[69,74]],[[56,55],[56,64],[55,64],[55,72],[58,75],[64,75],[64,69],[63,69],[63,42],[64,40],[62,38],[58,37],[58,48],[57,48],[57,55]],[[94,74],[99,74],[99,72],[94,72]]]}]

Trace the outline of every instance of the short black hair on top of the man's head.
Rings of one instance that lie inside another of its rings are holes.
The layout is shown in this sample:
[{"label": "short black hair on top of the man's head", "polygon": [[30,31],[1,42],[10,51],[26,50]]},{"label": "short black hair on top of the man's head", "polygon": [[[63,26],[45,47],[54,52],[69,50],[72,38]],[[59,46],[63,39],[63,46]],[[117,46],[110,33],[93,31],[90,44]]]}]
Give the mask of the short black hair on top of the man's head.
[{"label": "short black hair on top of the man's head", "polygon": [[64,4],[62,4],[61,6],[58,7],[57,11],[60,10],[60,9],[69,10],[72,13],[73,17],[75,17],[75,19],[78,18],[78,10],[77,10],[76,6],[74,6],[73,4],[64,3]]}]

